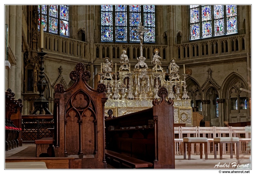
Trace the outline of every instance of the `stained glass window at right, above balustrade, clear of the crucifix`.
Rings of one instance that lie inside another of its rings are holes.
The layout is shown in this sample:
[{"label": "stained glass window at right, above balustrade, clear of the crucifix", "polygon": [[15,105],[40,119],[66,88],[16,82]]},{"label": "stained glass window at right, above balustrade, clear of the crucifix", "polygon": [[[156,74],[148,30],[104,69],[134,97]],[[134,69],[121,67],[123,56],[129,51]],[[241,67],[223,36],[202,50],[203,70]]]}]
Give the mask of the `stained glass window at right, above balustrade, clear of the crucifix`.
[{"label": "stained glass window at right, above balustrade, clear of the crucifix", "polygon": [[190,39],[237,33],[236,5],[189,5]]}]

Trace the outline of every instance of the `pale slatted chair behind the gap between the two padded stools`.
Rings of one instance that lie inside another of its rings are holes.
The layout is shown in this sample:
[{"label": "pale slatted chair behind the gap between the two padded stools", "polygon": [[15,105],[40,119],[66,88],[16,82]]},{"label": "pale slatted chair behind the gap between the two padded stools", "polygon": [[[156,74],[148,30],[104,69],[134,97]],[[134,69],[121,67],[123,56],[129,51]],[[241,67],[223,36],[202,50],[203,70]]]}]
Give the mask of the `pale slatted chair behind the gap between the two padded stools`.
[{"label": "pale slatted chair behind the gap between the two padded stools", "polygon": [[[197,137],[208,138],[208,154],[213,152],[213,136],[214,136],[214,127],[197,127]],[[203,154],[204,154],[203,148]]]}]

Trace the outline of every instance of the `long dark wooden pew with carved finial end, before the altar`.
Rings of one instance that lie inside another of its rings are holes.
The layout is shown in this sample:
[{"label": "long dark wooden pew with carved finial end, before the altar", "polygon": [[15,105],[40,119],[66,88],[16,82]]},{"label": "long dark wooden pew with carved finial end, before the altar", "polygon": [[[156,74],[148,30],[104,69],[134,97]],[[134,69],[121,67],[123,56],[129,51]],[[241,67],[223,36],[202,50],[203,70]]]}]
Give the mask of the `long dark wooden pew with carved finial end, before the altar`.
[{"label": "long dark wooden pew with carved finial end, before the altar", "polygon": [[164,87],[158,96],[152,108],[105,118],[106,158],[119,161],[121,168],[175,168],[173,100],[166,101]]}]

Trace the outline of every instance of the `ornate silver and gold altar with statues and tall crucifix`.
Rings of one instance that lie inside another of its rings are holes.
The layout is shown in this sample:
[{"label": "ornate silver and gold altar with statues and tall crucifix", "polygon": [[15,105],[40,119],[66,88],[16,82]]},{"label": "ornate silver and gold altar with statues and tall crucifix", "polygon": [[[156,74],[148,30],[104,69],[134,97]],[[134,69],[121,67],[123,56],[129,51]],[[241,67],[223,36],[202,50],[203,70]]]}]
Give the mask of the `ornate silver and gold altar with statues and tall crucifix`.
[{"label": "ornate silver and gold altar with statues and tall crucifix", "polygon": [[[142,28],[142,27],[139,27]],[[139,33],[143,35],[143,32]],[[142,50],[142,39],[141,39]],[[176,65],[176,59],[173,58],[170,62],[169,74],[164,72],[161,67],[160,59],[158,56],[158,49],[155,49],[155,55],[152,55],[152,62],[154,68],[148,68],[144,62],[145,57],[142,55],[137,58],[138,63],[135,65],[133,71],[128,66],[129,59],[123,51],[120,57],[120,71],[117,71],[115,64],[115,73],[112,72],[113,64],[108,66],[108,62],[101,64],[101,73],[99,74],[100,83],[106,85],[106,97],[108,97],[105,103],[105,116],[108,116],[108,111],[115,117],[125,114],[137,112],[140,110],[152,107],[152,100],[160,97],[157,95],[158,89],[162,86],[168,89],[168,98],[174,100],[174,123],[186,123],[186,126],[193,126],[192,120],[192,107],[190,106],[189,96],[186,91],[186,76],[185,67],[183,80],[178,75],[179,66]],[[123,59],[122,57],[126,57]],[[121,61],[122,58],[122,61]],[[109,60],[109,58],[105,58]],[[123,68],[122,65],[126,65],[128,68]],[[103,65],[103,66],[102,66]],[[158,68],[159,67],[159,68]],[[112,78],[110,78],[112,77]],[[166,80],[167,79],[167,80]]]}]

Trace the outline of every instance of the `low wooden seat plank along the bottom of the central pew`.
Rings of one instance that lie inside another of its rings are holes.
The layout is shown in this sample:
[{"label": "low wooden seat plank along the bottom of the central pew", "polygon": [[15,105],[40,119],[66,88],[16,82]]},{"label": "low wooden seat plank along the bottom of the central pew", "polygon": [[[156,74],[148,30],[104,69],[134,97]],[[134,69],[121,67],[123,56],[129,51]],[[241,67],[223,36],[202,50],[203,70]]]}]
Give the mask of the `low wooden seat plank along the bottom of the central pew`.
[{"label": "low wooden seat plank along the bottom of the central pew", "polygon": [[132,158],[127,155],[123,155],[117,152],[113,152],[111,150],[105,150],[106,158],[110,158],[110,164],[113,159],[119,161],[119,168],[122,169],[122,164],[127,164],[132,169],[138,169],[138,168],[151,168],[153,167],[153,164],[150,162],[146,162],[140,159]]}]

